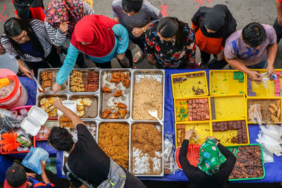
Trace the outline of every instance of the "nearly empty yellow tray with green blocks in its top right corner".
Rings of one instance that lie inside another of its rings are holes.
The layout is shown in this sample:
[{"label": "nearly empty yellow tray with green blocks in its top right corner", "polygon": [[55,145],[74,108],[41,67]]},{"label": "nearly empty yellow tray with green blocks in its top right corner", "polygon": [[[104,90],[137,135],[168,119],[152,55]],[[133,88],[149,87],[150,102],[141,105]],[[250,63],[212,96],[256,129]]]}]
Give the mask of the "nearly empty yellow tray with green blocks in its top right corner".
[{"label": "nearly empty yellow tray with green blocks in its top right corner", "polygon": [[245,94],[246,75],[239,82],[233,79],[234,72],[238,70],[209,70],[209,94]]}]

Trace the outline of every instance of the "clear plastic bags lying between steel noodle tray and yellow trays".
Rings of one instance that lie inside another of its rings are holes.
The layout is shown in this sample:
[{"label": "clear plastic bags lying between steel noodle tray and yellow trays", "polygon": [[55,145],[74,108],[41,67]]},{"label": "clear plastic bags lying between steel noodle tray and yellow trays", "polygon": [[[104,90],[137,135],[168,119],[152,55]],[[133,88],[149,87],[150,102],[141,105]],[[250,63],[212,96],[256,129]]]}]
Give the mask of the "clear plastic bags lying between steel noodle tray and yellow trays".
[{"label": "clear plastic bags lying between steel noodle tray and yellow trays", "polygon": [[165,134],[164,135],[164,174],[170,175],[175,174],[178,170],[175,159],[175,146],[173,146],[173,135],[172,134]]}]

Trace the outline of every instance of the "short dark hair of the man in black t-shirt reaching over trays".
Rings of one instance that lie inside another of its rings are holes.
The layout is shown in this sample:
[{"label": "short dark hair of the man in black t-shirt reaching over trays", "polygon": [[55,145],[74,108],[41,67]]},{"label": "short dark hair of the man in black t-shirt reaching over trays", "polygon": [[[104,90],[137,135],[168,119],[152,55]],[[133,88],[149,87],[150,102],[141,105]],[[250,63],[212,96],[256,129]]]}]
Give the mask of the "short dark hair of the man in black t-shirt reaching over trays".
[{"label": "short dark hair of the man in black t-shirt reaching over trays", "polygon": [[48,142],[59,151],[70,151],[74,143],[71,134],[63,127],[53,127]]}]

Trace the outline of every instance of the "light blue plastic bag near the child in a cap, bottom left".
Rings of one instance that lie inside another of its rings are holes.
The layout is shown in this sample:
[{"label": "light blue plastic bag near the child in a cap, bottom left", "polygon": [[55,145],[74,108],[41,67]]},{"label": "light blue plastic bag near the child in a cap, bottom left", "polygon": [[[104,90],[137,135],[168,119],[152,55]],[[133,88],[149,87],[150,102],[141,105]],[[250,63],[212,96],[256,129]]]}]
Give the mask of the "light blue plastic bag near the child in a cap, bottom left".
[{"label": "light blue plastic bag near the child in a cap, bottom left", "polygon": [[41,175],[42,170],[40,161],[50,163],[49,153],[42,148],[31,147],[30,152],[27,153],[22,164],[26,168],[30,168],[30,170],[34,170],[37,174]]}]

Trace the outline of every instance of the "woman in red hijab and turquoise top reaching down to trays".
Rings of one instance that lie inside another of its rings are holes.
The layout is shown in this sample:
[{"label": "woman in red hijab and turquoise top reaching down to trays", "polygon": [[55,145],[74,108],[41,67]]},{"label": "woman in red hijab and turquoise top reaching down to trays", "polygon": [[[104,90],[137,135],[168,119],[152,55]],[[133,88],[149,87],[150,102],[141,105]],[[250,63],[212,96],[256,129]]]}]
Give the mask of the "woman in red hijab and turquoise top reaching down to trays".
[{"label": "woman in red hijab and turquoise top reaching down to trays", "polygon": [[53,91],[61,90],[61,84],[70,75],[80,51],[99,68],[111,68],[111,59],[115,57],[123,68],[131,68],[133,57],[127,50],[128,40],[128,31],[123,25],[104,15],[86,15],[75,25],[68,54],[56,77]]}]

